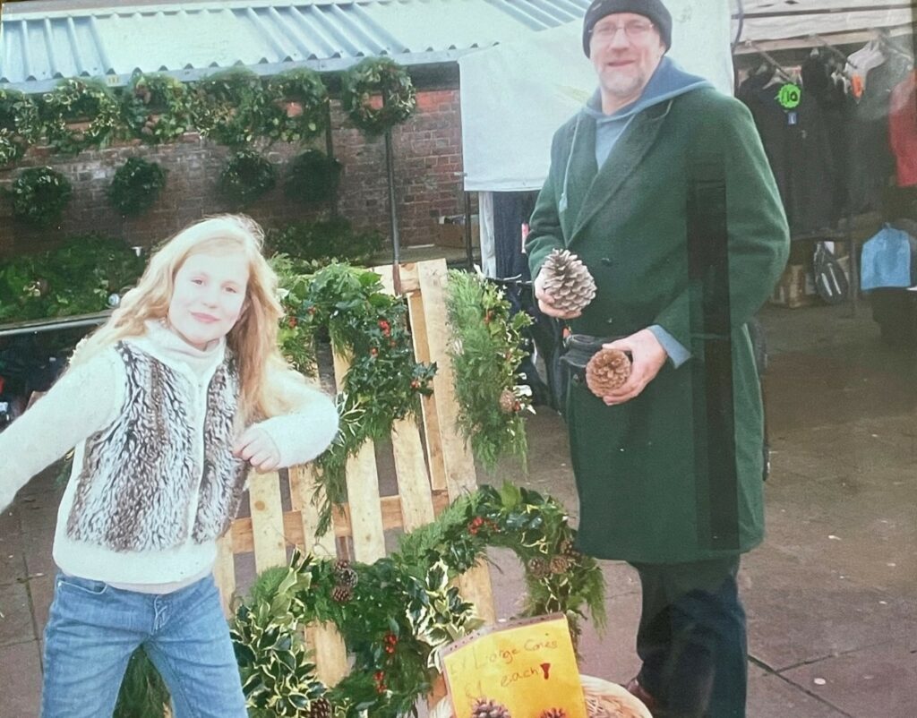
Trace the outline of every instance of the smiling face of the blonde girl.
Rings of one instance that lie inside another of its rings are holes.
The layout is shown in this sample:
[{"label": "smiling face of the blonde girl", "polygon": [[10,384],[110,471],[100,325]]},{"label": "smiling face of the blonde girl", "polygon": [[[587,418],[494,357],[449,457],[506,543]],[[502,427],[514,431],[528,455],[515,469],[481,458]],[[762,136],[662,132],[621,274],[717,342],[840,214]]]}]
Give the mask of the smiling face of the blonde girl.
[{"label": "smiling face of the blonde girl", "polygon": [[226,337],[242,314],[248,284],[249,262],[242,252],[191,255],[175,274],[172,330],[199,349]]}]

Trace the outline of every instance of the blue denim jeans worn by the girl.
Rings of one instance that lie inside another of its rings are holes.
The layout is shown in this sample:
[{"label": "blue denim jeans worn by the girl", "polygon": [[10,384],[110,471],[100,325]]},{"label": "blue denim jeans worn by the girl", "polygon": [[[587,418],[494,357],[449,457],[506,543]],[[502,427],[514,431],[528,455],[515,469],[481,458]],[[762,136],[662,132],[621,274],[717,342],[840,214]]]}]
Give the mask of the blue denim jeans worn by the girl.
[{"label": "blue denim jeans worn by the girl", "polygon": [[138,646],[169,687],[175,718],[248,715],[213,576],[150,594],[58,574],[45,627],[42,718],[110,716]]}]

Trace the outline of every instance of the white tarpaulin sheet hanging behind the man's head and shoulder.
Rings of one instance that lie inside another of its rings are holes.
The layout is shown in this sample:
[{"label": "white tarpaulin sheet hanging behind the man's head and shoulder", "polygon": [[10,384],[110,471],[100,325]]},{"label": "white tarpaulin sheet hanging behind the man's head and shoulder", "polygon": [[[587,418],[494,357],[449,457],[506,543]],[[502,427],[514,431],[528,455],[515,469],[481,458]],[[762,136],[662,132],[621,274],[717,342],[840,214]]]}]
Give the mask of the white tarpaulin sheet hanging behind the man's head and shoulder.
[{"label": "white tarpaulin sheet hanging behind the man's head and shoulder", "polygon": [[[729,0],[668,0],[666,6],[674,20],[668,54],[731,94]],[[582,23],[573,22],[458,60],[466,190],[541,188],[554,131],[596,88],[581,38]]]}]

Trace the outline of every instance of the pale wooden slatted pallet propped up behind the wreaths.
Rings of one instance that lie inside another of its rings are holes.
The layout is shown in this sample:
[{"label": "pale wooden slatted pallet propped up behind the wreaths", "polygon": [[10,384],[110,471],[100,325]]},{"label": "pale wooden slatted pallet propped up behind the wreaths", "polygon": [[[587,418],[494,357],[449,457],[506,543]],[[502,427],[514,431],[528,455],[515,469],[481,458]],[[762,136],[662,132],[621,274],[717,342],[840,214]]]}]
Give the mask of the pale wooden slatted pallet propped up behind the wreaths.
[{"label": "pale wooden slatted pallet propped up behind the wreaths", "polygon": [[[392,462],[397,494],[380,495],[376,447],[370,442],[347,468],[348,504],[333,514],[331,528],[316,536],[318,514],[312,497],[315,475],[309,466],[288,472],[253,475],[249,486],[250,516],[236,519],[218,545],[215,566],[224,606],[237,590],[236,559],[253,554],[255,569],[262,571],[287,563],[288,547],[298,546],[316,556],[333,557],[352,545],[357,561],[371,563],[385,556],[385,532],[405,532],[433,521],[436,514],[463,492],[477,488],[474,461],[456,430],[458,404],[452,391],[452,363],[446,316],[446,261],[431,260],[375,268],[389,293],[399,285],[408,302],[414,337],[414,354],[436,362],[433,395],[423,400],[421,421],[399,421],[392,428]],[[340,384],[348,370],[346,358],[335,357],[335,378]],[[423,431],[423,435],[421,434]],[[288,479],[283,478],[288,473]],[[282,481],[289,481],[289,487]],[[282,495],[289,489],[292,509],[284,511]],[[462,595],[477,607],[481,618],[494,621],[490,572],[486,565],[458,580]],[[348,672],[343,641],[331,626],[315,625],[306,639],[315,651],[320,679],[333,685]]]}]

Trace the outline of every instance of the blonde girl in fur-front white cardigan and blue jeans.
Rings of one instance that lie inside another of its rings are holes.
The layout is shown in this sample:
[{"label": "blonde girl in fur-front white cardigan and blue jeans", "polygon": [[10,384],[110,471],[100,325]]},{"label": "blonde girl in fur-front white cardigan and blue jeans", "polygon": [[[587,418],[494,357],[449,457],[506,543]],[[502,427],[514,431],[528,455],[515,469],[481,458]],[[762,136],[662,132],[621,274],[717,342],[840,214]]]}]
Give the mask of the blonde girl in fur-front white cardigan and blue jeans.
[{"label": "blonde girl in fur-front white cardigan and blue jeans", "polygon": [[215,542],[249,469],[309,461],[337,432],[334,403],[277,349],[282,310],[262,238],[235,215],[182,230],[61,381],[0,434],[2,509],[75,447],[54,536],[43,718],[110,716],[141,645],[176,718],[247,715]]}]

